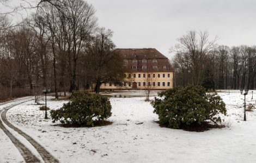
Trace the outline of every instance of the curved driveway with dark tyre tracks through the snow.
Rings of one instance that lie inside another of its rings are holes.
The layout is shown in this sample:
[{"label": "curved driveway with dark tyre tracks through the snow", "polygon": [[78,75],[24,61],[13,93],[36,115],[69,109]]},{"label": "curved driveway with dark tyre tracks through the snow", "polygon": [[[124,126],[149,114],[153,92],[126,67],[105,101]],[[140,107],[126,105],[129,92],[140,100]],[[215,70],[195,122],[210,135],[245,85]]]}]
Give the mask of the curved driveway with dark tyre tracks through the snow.
[{"label": "curved driveway with dark tyre tracks through the snow", "polygon": [[[29,100],[31,101],[31,100]],[[25,101],[28,102],[28,101]],[[25,103],[25,102],[21,102],[21,103]],[[21,104],[19,103],[19,104]],[[6,118],[6,113],[10,108],[13,108],[16,105],[19,104],[14,104],[11,106],[8,106],[6,108],[3,108],[0,111],[0,115],[2,118],[3,123],[5,123],[8,127],[10,127],[11,129],[15,130],[17,133],[19,133],[21,136],[25,137],[25,139],[27,139],[28,142],[30,142],[34,148],[36,149],[36,151],[38,151],[38,153],[41,155],[42,159],[45,162],[59,162],[56,158],[54,158],[54,156],[52,156],[48,151],[46,151],[46,149],[44,147],[42,147],[38,142],[36,142],[34,139],[32,139],[32,137],[28,136],[26,133],[23,133],[23,131],[21,131],[20,129],[16,128],[15,126],[13,126],[13,124],[11,124],[7,118]],[[38,158],[36,158],[36,156],[34,154],[32,154],[31,151],[29,151],[29,149],[27,147],[25,147],[19,140],[16,139],[16,137],[10,133],[10,131],[4,127],[2,121],[0,121],[0,128],[4,131],[5,134],[7,134],[7,136],[10,138],[10,140],[14,143],[14,145],[19,149],[21,155],[23,156],[23,158],[25,159],[26,162],[40,162]]]}]

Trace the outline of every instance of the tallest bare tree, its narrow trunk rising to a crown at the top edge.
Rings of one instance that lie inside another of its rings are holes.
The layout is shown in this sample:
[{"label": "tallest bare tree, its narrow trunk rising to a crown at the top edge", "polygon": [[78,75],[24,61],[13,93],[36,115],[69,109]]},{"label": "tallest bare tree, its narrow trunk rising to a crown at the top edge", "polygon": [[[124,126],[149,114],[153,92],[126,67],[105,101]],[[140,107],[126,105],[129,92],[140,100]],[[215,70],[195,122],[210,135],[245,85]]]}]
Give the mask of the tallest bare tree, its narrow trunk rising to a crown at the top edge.
[{"label": "tallest bare tree, its narrow trunk rising to a crown at the top edge", "polygon": [[94,32],[96,26],[95,10],[82,0],[64,0],[60,9],[62,35],[66,41],[66,54],[69,62],[70,92],[76,89],[77,62],[81,49]]}]

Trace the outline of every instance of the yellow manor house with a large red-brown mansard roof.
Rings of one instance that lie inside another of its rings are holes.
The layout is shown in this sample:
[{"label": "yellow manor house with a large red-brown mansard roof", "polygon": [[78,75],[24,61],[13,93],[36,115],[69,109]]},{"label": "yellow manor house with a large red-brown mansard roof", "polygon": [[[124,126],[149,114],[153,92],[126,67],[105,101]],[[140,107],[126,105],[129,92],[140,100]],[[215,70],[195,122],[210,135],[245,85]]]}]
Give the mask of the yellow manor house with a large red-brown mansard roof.
[{"label": "yellow manor house with a large red-brown mansard roof", "polygon": [[101,89],[152,89],[173,88],[173,70],[169,60],[155,48],[118,48],[126,70],[123,84],[105,83]]}]

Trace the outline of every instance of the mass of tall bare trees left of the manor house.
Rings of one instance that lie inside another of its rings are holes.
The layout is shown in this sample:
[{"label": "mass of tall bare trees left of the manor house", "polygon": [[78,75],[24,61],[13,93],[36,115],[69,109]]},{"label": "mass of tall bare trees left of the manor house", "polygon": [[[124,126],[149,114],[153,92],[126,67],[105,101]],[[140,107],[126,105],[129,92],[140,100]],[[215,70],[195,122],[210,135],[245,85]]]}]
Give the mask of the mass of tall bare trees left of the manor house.
[{"label": "mass of tall bare trees left of the manor house", "polygon": [[97,25],[93,5],[85,1],[40,1],[19,26],[10,22],[0,15],[0,99],[39,93],[41,87],[51,87],[58,98],[60,91],[92,83],[99,92],[102,83],[123,77],[113,32]]}]

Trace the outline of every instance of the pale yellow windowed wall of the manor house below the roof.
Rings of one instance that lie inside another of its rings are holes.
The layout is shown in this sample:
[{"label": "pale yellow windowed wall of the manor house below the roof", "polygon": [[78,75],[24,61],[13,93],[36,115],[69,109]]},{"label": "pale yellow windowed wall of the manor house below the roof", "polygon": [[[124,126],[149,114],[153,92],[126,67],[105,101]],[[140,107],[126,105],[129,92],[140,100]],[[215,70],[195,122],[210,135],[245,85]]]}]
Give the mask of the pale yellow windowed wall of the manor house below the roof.
[{"label": "pale yellow windowed wall of the manor house below the roof", "polygon": [[[160,89],[170,89],[173,88],[173,72],[131,72],[131,78],[129,78],[129,73],[126,73],[125,83],[126,86],[119,86],[114,85],[112,83],[112,86],[109,85],[109,83],[102,84],[100,89],[135,89],[133,85],[137,85],[137,89],[145,89],[149,87],[150,89],[160,90]],[[136,75],[135,78],[133,78],[133,74]],[[141,78],[139,78],[139,74],[141,74]],[[145,74],[145,78],[143,78],[143,74]],[[150,77],[148,77],[148,74],[150,74]],[[155,74],[155,77],[153,76]],[[160,78],[159,78],[160,74]],[[164,74],[164,77],[163,77]],[[168,77],[169,74],[169,77]],[[141,86],[139,86],[139,82]],[[145,86],[143,85],[143,82],[145,82]],[[150,86],[148,83],[150,82]],[[160,86],[158,83],[160,82]],[[129,86],[129,83],[131,84]],[[155,83],[155,86],[153,85]],[[164,85],[163,85],[164,83]],[[169,86],[168,86],[169,83]]]}]

